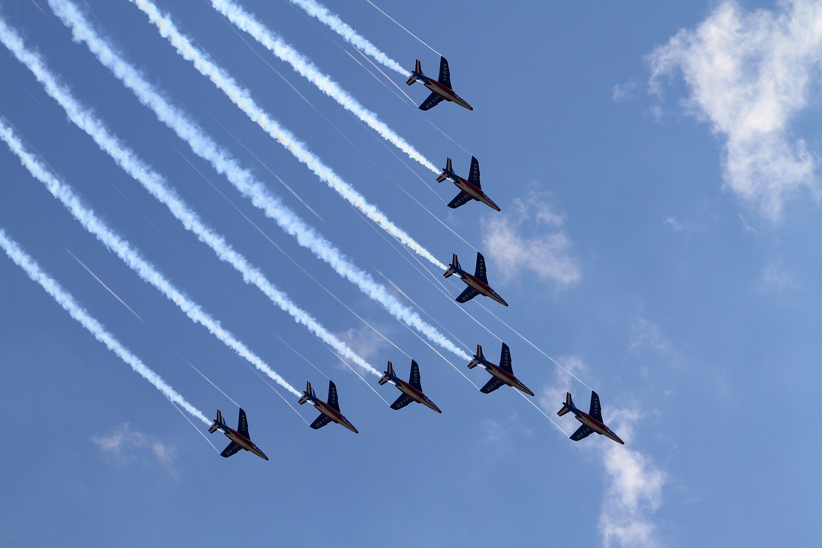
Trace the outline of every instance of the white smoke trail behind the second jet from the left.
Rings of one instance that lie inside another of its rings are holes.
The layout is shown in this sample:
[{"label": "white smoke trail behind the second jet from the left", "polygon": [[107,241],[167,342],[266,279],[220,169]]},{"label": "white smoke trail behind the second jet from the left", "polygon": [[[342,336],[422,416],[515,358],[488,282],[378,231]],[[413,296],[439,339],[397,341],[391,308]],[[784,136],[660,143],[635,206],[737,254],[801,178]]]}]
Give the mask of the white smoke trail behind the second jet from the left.
[{"label": "white smoke trail behind the second jet from the left", "polygon": [[[0,19],[0,38],[6,38],[5,29],[3,28],[5,21]],[[178,288],[175,288],[172,283],[160,274],[154,265],[151,265],[147,260],[140,256],[139,251],[136,251],[130,243],[123,240],[117,233],[109,228],[102,219],[99,219],[93,210],[87,208],[82,200],[74,193],[72,187],[69,187],[64,182],[46,168],[43,163],[30,154],[23,146],[19,137],[17,137],[11,127],[8,127],[2,120],[0,120],[0,138],[6,141],[8,148],[20,158],[21,163],[26,169],[40,182],[42,182],[52,195],[66,206],[72,216],[80,221],[83,228],[94,234],[97,239],[108,247],[109,250],[117,254],[129,268],[134,270],[141,279],[150,283],[155,288],[158,288],[166,297],[174,304],[179,306],[186,315],[192,319],[196,324],[204,325],[212,334],[219,340],[223,341],[239,356],[244,357],[247,361],[253,363],[257,369],[265,371],[272,379],[289,389],[292,394],[301,396],[302,393],[289,385],[281,376],[275,371],[272,371],[265,361],[262,361],[251,350],[249,350],[243,343],[238,341],[226,329],[219,325],[219,321],[212,318],[205,313],[196,302],[186,297]]]}]

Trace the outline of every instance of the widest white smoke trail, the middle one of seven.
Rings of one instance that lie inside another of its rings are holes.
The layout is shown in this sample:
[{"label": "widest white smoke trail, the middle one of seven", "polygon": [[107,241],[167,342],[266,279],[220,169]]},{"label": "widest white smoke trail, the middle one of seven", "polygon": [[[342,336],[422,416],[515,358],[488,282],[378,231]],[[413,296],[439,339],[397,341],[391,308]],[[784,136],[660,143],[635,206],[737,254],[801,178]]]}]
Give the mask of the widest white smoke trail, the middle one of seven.
[{"label": "widest white smoke trail, the middle one of seven", "polygon": [[108,67],[128,89],[132,90],[142,104],[153,110],[161,122],[177,133],[182,140],[187,141],[192,151],[210,162],[218,173],[224,173],[229,182],[243,196],[252,200],[256,207],[263,210],[266,216],[274,219],[286,233],[296,237],[301,246],[311,250],[319,259],[325,260],[340,276],[357,284],[360,291],[379,302],[395,318],[417,329],[442,348],[454,352],[461,358],[470,359],[445,335],[423,321],[417,312],[403,306],[385,286],[376,283],[371,274],[359,269],[326,238],[307,226],[297,214],[283,205],[279,198],[270,194],[265,184],[257,181],[249,170],[242,168],[226,150],[216,145],[201,127],[197,126],[181,110],[169,104],[155,86],[145,81],[140,71],[125,61],[106,40],[95,32],[72,2],[49,0],[49,3],[62,21],[72,29],[74,39],[85,42],[99,61]]}]

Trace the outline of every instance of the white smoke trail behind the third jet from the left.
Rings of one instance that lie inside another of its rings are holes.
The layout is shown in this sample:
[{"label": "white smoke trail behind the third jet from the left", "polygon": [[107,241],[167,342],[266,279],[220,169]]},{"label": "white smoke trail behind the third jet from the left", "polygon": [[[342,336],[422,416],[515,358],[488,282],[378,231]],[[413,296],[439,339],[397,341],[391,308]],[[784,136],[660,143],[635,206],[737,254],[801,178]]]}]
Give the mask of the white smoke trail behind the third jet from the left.
[{"label": "white smoke trail behind the third jet from the left", "polygon": [[[155,196],[157,200],[168,206],[174,217],[176,217],[187,230],[195,233],[201,242],[210,246],[217,256],[219,256],[220,260],[226,261],[229,265],[237,269],[242,274],[244,282],[253,283],[257,288],[260,288],[260,290],[266,294],[266,297],[270,298],[271,302],[274,302],[275,305],[288,312],[295,321],[305,325],[309,331],[315,334],[324,343],[335,348],[337,352],[348,357],[351,361],[358,364],[358,366],[362,366],[369,371],[373,371],[375,375],[379,375],[379,371],[376,371],[367,361],[359,357],[353,350],[346,346],[345,343],[339,340],[339,338],[330,334],[312,315],[309,315],[306,311],[303,311],[291,302],[288,295],[275,288],[274,284],[270,283],[259,269],[250,265],[244,256],[234,251],[233,248],[225,242],[224,237],[206,227],[199,216],[177,196],[177,193],[166,186],[163,177],[161,177],[159,173],[152,171],[141,159],[136,157],[136,154],[134,154],[132,150],[123,146],[117,137],[109,133],[108,128],[104,127],[102,122],[90,113],[87,108],[83,108],[81,104],[77,103],[76,99],[72,97],[72,94],[64,86],[58,84],[55,76],[48,71],[48,68],[39,56],[25,49],[21,38],[16,35],[2,19],[0,19],[0,40],[2,40],[3,44],[6,44],[7,48],[12,50],[12,53],[15,54],[20,62],[25,64],[26,67],[29,67],[30,71],[35,74],[37,80],[44,85],[46,92],[53,97],[53,99],[57,100],[62,108],[66,110],[68,117],[77,127],[80,127],[88,133],[102,150],[109,154],[123,170],[140,182],[152,196]],[[179,297],[182,297],[182,293],[179,294]],[[169,296],[169,298],[171,297]],[[177,301],[175,300],[175,302]],[[193,302],[191,304],[194,305]],[[211,321],[213,322],[214,320]],[[226,337],[233,339],[228,332],[225,333]],[[266,370],[264,370],[266,373],[271,371],[267,366]],[[293,394],[302,395],[274,371],[271,371],[269,375],[274,375],[272,378],[285,388],[291,390]]]}]

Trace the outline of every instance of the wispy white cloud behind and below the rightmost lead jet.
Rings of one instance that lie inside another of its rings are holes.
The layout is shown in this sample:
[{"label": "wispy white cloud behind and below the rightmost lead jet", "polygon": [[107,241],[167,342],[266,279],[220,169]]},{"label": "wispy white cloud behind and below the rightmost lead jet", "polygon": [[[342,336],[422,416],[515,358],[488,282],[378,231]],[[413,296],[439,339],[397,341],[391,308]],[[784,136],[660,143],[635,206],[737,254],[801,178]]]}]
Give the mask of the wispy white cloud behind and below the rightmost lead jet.
[{"label": "wispy white cloud behind and below the rightmost lead jet", "polygon": [[[586,369],[580,358],[575,356],[561,357],[559,362],[575,374]],[[565,371],[558,371],[556,385],[543,390],[540,403],[546,412],[556,412],[561,407],[566,392],[570,391],[570,380],[570,375]],[[577,399],[577,406],[584,408],[584,399]],[[652,516],[662,504],[666,474],[655,466],[651,458],[630,449],[634,438],[633,426],[641,418],[640,412],[605,407],[603,417],[626,444],[617,444],[601,435],[591,435],[578,442],[580,450],[595,452],[602,458],[607,482],[599,514],[603,546],[655,548],[659,543]],[[580,426],[570,413],[557,417],[557,421],[568,432]]]}]

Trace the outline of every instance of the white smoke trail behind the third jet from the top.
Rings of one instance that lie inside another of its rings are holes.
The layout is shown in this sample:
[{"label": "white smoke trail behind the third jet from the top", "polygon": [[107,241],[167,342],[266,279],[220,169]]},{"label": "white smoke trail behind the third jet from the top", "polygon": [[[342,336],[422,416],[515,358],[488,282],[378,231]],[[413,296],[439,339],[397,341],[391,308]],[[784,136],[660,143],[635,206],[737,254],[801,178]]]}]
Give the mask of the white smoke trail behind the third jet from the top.
[{"label": "white smoke trail behind the third jet from the top", "polygon": [[157,7],[149,0],[129,0],[136,4],[146,15],[149,20],[157,25],[160,35],[169,39],[169,42],[177,49],[178,53],[191,61],[194,67],[201,72],[203,76],[207,76],[210,81],[220,89],[224,94],[229,96],[229,99],[236,104],[242,112],[246,113],[254,122],[259,124],[270,136],[274,137],[279,144],[293,154],[293,156],[300,162],[305,163],[321,181],[325,181],[331,188],[333,188],[339,196],[343,196],[349,201],[351,205],[362,211],[368,219],[371,219],[391,236],[397,238],[405,246],[409,246],[418,255],[430,260],[434,265],[441,269],[446,269],[436,257],[432,256],[431,252],[425,247],[418,244],[412,237],[410,237],[404,230],[397,227],[394,223],[383,214],[376,205],[369,204],[365,196],[355,191],[349,183],[339,177],[334,171],[322,163],[311,151],[306,148],[302,142],[297,140],[293,134],[284,129],[276,122],[266,111],[260,108],[252,99],[251,92],[240,87],[233,79],[220,67],[217,67],[214,62],[210,61],[205,53],[202,53],[198,48],[195,48],[186,36],[182,35],[177,27],[173,24],[168,16],[162,15]]}]

